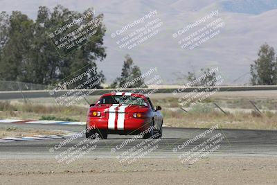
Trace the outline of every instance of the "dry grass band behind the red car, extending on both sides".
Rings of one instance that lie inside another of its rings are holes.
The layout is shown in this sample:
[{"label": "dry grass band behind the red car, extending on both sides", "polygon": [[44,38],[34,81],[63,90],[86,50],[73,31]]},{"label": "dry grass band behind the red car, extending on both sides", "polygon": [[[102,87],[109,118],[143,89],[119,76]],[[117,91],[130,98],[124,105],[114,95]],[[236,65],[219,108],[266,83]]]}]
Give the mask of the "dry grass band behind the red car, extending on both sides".
[{"label": "dry grass band behind the red car, extending on both sides", "polygon": [[[155,99],[153,101],[154,105],[163,106],[163,123],[172,127],[211,127],[211,125],[218,123],[222,128],[277,130],[276,112],[263,111],[262,115],[260,115],[253,111],[234,111],[225,115],[218,111],[211,103],[205,103],[196,105],[186,113],[179,109],[177,98]],[[206,101],[210,102],[211,100]],[[237,102],[237,100],[228,100],[229,104],[235,102]],[[269,101],[264,100],[263,102],[265,102],[267,105],[266,107],[268,107]],[[227,103],[227,101],[222,100],[221,104],[224,105],[224,103]],[[55,104],[44,105],[35,103],[0,102],[0,119],[43,118],[86,121],[87,109],[88,107],[84,106],[65,107]]]}]

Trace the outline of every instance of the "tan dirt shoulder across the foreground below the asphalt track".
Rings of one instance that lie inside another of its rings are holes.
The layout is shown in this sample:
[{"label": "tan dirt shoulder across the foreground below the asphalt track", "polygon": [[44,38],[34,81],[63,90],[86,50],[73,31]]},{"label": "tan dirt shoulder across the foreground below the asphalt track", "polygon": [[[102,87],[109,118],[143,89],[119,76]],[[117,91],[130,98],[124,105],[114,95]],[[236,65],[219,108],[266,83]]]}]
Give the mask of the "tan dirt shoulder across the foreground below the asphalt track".
[{"label": "tan dirt shoulder across the foreground below the asphalt track", "polygon": [[0,160],[1,184],[277,184],[273,157],[212,157],[193,165],[178,159]]}]

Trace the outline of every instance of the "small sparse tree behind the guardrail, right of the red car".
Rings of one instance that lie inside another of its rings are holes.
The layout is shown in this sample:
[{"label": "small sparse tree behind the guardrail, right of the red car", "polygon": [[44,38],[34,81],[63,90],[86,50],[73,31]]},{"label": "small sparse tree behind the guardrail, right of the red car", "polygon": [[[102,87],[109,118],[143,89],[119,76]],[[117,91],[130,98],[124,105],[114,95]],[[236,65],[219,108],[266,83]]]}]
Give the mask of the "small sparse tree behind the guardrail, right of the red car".
[{"label": "small sparse tree behind the guardrail, right of the red car", "polygon": [[216,80],[213,80],[216,78],[216,73],[215,71],[211,72],[211,69],[207,68],[207,69],[200,69],[202,75],[201,77],[204,78],[199,78],[199,80],[197,80],[197,77],[195,76],[195,72],[188,72],[188,76],[186,77],[186,79],[189,82],[193,82],[195,80],[197,80],[196,83],[193,84],[193,86],[213,86],[215,85]]}]

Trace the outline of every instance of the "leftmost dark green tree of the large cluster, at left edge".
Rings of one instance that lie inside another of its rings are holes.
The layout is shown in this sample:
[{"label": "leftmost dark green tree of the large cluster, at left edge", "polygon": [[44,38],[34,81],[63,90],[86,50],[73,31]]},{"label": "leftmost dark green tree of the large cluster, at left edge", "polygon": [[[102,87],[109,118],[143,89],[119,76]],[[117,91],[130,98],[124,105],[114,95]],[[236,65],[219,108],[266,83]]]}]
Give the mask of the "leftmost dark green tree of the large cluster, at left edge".
[{"label": "leftmost dark green tree of the large cluster, at left edge", "polygon": [[21,80],[30,62],[33,21],[21,12],[12,12],[9,18],[8,39],[1,51],[0,76],[5,80]]}]

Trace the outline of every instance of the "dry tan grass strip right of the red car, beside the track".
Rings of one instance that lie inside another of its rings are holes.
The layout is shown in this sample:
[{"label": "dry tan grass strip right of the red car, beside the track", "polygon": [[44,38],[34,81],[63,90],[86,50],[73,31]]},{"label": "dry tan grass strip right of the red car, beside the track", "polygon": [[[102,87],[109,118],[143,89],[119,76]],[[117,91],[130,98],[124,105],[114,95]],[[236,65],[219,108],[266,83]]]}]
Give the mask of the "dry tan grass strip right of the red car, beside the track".
[{"label": "dry tan grass strip right of the red car, beside the track", "polygon": [[277,130],[277,114],[272,112],[235,112],[225,115],[211,107],[198,106],[186,113],[163,110],[164,123],[172,127],[211,127],[219,124],[222,128]]}]

